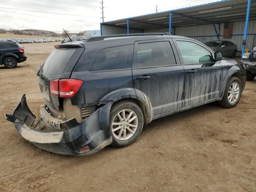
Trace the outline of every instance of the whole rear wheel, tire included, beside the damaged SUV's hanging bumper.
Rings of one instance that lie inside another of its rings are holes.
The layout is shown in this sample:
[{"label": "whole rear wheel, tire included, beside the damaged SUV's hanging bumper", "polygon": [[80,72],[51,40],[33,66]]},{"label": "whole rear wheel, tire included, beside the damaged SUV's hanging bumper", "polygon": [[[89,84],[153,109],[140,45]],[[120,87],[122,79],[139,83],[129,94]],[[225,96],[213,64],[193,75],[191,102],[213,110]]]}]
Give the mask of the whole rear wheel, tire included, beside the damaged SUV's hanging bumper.
[{"label": "whole rear wheel, tire included, beside the damaged SUV's hanging bumper", "polygon": [[[123,118],[123,112],[126,120]],[[118,114],[120,116],[118,116]],[[127,122],[127,118],[134,120]],[[137,104],[128,100],[116,102],[110,110],[110,132],[113,139],[111,145],[114,147],[125,147],[132,144],[140,135],[143,124],[143,113]]]}]

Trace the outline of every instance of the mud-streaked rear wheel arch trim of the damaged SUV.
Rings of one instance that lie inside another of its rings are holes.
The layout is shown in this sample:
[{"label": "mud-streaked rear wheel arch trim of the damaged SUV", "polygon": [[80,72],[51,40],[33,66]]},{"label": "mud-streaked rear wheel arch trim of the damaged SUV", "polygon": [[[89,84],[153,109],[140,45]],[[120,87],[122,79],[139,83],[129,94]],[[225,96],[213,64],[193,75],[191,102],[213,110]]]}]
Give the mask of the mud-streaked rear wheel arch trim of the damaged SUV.
[{"label": "mud-streaked rear wheel arch trim of the damaged SUV", "polygon": [[136,90],[136,92],[134,88],[122,88],[114,90],[104,96],[100,101],[112,101],[113,105],[120,100],[130,100],[136,103],[141,108],[144,116],[144,125],[152,121],[152,105],[146,94],[144,94],[140,90]]}]

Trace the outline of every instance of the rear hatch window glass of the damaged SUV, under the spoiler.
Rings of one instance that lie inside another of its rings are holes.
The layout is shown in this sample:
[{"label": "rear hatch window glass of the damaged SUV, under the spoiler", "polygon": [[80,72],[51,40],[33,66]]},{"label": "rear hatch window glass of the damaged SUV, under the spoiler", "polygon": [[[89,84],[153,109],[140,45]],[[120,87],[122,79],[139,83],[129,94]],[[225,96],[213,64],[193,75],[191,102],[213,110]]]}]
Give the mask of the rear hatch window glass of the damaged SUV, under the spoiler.
[{"label": "rear hatch window glass of the damaged SUV, under the spoiler", "polygon": [[76,48],[55,49],[47,58],[42,68],[46,75],[63,73]]}]

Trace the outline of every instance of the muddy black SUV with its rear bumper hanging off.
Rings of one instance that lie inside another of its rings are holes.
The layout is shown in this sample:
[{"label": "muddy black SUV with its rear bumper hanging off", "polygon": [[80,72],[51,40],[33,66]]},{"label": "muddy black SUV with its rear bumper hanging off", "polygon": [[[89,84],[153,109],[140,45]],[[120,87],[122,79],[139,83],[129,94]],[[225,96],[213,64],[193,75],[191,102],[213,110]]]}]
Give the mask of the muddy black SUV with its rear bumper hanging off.
[{"label": "muddy black SUV with its rear bumper hanging off", "polygon": [[25,95],[12,115],[18,133],[58,154],[132,144],[152,120],[218,101],[232,108],[245,86],[242,62],[166,34],[93,37],[55,46],[38,70],[40,120]]}]

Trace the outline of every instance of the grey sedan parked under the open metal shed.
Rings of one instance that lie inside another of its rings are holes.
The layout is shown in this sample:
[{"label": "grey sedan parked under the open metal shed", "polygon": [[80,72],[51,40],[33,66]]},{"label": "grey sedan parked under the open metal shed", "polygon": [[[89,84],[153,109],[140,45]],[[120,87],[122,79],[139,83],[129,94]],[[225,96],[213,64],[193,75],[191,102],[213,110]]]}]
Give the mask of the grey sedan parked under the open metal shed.
[{"label": "grey sedan parked under the open metal shed", "polygon": [[214,52],[220,52],[223,57],[235,58],[237,45],[230,41],[208,41],[205,43]]}]

